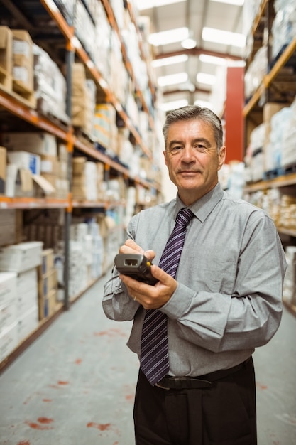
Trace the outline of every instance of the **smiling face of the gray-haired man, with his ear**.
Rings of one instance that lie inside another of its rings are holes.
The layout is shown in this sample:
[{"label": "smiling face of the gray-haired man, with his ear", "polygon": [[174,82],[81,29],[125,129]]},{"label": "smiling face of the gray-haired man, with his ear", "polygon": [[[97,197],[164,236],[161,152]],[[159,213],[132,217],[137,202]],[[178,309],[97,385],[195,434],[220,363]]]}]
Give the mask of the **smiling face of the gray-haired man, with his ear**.
[{"label": "smiling face of the gray-haired man, with his ear", "polygon": [[164,155],[170,180],[183,203],[191,205],[216,186],[226,148],[218,152],[212,127],[192,119],[170,126]]}]

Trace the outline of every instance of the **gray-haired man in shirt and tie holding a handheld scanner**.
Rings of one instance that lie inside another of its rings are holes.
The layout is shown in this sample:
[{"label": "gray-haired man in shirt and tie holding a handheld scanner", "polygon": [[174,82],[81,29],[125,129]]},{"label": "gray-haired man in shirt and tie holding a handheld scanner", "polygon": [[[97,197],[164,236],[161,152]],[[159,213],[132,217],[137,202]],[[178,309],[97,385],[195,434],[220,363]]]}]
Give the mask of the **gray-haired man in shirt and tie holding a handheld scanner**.
[{"label": "gray-haired man in shirt and tie holding a handheld scanner", "polygon": [[[151,385],[139,372],[136,444],[256,445],[251,355],[280,323],[283,247],[263,210],[222,191],[218,171],[226,147],[216,114],[176,109],[163,134],[177,198],[135,215],[119,249],[153,260],[159,281],[150,286],[116,273],[104,287],[106,316],[133,319],[128,346],[139,358],[148,310],[158,309],[167,323],[168,375]],[[156,264],[181,208],[190,208],[193,218],[174,278]]]}]

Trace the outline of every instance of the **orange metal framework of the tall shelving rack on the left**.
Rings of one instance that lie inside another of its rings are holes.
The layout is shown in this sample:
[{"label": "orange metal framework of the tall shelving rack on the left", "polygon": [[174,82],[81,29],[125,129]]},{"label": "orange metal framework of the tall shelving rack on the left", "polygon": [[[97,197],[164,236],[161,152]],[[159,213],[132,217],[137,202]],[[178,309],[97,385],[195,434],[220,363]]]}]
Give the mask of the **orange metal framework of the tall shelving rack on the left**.
[{"label": "orange metal framework of the tall shelving rack on the left", "polygon": [[[100,1],[100,0],[98,0]],[[104,6],[104,9],[106,11],[106,16],[109,19],[109,23],[111,27],[116,31],[117,35],[119,36],[119,40],[121,42],[121,51],[122,56],[124,60],[124,64],[126,66],[126,70],[128,71],[128,74],[131,77],[131,80],[133,80],[133,85],[135,85],[135,91],[136,95],[139,98],[141,102],[141,106],[143,107],[143,110],[148,114],[148,122],[150,125],[150,128],[153,129],[153,117],[150,115],[150,112],[148,110],[148,105],[145,102],[145,99],[143,97],[143,94],[141,90],[138,88],[136,79],[133,74],[133,68],[131,66],[131,63],[128,61],[128,57],[126,55],[126,48],[124,45],[124,41],[121,38],[119,27],[116,24],[116,19],[114,16],[114,12],[111,9],[111,6],[109,4],[108,0],[101,0],[102,4]],[[99,87],[102,92],[104,92],[104,95],[106,96],[106,99],[109,103],[111,103],[114,108],[116,109],[116,112],[119,114],[121,119],[123,120],[125,126],[128,128],[129,132],[133,135],[133,138],[135,140],[135,144],[141,147],[141,150],[143,151],[143,154],[145,154],[151,163],[153,163],[153,154],[150,151],[150,149],[146,146],[146,144],[143,143],[143,140],[141,138],[141,134],[138,133],[138,129],[136,129],[136,126],[133,125],[133,122],[128,117],[126,112],[124,111],[124,107],[119,102],[119,100],[116,99],[115,95],[111,91],[108,82],[106,79],[104,79],[104,76],[99,72],[97,67],[94,65],[92,60],[89,58],[89,55],[87,54],[86,50],[84,50],[82,44],[75,36],[75,30],[73,26],[69,23],[67,23],[64,16],[62,16],[62,13],[59,9],[57,9],[56,4],[53,0],[40,0],[38,1],[39,4],[42,4],[45,11],[47,11],[48,15],[53,19],[53,21],[56,23],[57,28],[60,30],[60,33],[65,38],[65,63],[66,63],[66,80],[67,80],[67,106],[66,106],[66,112],[67,115],[71,116],[71,66],[73,61],[75,60],[75,56],[84,64],[85,68],[87,69],[87,72],[89,73],[90,77],[96,82],[97,87]],[[133,10],[131,3],[129,1],[126,2],[126,6],[128,7],[128,11],[131,15],[131,20],[134,21],[135,26],[135,18],[133,15]],[[40,5],[38,6],[40,7]],[[140,33],[138,32],[138,36],[140,38]],[[142,58],[143,56],[143,50],[141,49],[141,41],[139,40],[140,50]],[[152,82],[149,83],[150,88],[152,90],[153,94],[153,86]],[[26,97],[22,97],[21,95],[17,95],[15,92],[11,90],[7,90],[4,85],[0,84],[0,108],[4,109],[9,114],[13,114],[17,119],[21,119],[23,122],[27,122],[31,126],[35,127],[36,129],[43,130],[45,132],[49,132],[50,134],[53,134],[67,145],[67,151],[69,154],[69,166],[68,166],[68,179],[71,180],[71,168],[70,163],[72,160],[72,154],[74,149],[77,151],[80,151],[82,154],[86,155],[90,159],[94,159],[96,161],[102,162],[104,164],[104,170],[106,173],[106,177],[109,177],[110,171],[117,172],[117,174],[124,177],[126,181],[131,181],[132,183],[139,184],[143,186],[144,188],[153,189],[153,191],[156,191],[156,193],[160,192],[160,184],[150,180],[143,179],[141,177],[134,177],[131,176],[130,171],[125,166],[121,165],[121,163],[117,163],[113,159],[109,158],[106,154],[104,154],[101,151],[97,151],[94,149],[94,146],[92,146],[92,143],[89,141],[81,140],[77,135],[75,135],[73,128],[71,124],[65,124],[65,122],[53,122],[52,119],[49,117],[40,115],[34,108],[34,105],[26,100]],[[155,166],[157,168],[157,166]],[[70,260],[70,252],[69,252],[69,244],[70,244],[70,224],[71,224],[71,218],[72,218],[72,210],[73,208],[97,208],[97,209],[103,209],[107,210],[108,208],[115,206],[115,205],[124,205],[124,202],[120,201],[119,203],[109,203],[108,200],[103,202],[80,202],[77,200],[72,199],[71,192],[68,194],[67,199],[57,199],[57,198],[9,198],[6,196],[0,196],[0,208],[14,208],[14,209],[47,209],[47,208],[62,208],[65,210],[65,300],[63,301],[63,304],[60,304],[57,307],[57,311],[51,318],[45,319],[44,321],[40,322],[40,325],[38,326],[38,329],[31,333],[31,336],[29,336],[26,341],[22,342],[21,345],[18,345],[18,348],[13,351],[13,353],[4,360],[3,363],[0,363],[0,370],[6,366],[6,364],[10,363],[13,358],[18,355],[19,352],[23,350],[23,348],[26,348],[28,344],[30,344],[36,336],[38,336],[47,326],[49,323],[51,323],[58,313],[60,313],[63,309],[69,309],[70,307],[70,301],[69,301],[69,293],[68,293],[68,287],[67,287],[67,280],[68,280],[68,273],[69,273],[69,260]],[[95,282],[96,280],[94,280]],[[89,283],[89,286],[92,286],[94,282]],[[89,287],[88,286],[88,287]],[[86,291],[87,289],[84,289]],[[75,296],[75,299],[77,299],[82,292]],[[73,301],[75,301],[75,299]]]}]

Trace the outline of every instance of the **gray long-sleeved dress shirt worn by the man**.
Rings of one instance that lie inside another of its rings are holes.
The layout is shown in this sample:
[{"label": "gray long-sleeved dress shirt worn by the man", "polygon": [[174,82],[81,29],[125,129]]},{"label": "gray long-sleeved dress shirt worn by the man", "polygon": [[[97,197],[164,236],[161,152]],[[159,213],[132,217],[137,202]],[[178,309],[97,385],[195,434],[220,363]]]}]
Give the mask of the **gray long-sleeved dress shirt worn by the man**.
[{"label": "gray long-sleeved dress shirt worn by the man", "polygon": [[[133,216],[127,235],[158,264],[175,225],[180,198]],[[219,183],[190,206],[177,269],[177,289],[160,310],[168,315],[170,375],[198,376],[231,368],[265,345],[280,324],[285,253],[273,220],[235,200]],[[104,286],[103,309],[133,320],[128,347],[140,354],[145,310],[115,272]]]}]

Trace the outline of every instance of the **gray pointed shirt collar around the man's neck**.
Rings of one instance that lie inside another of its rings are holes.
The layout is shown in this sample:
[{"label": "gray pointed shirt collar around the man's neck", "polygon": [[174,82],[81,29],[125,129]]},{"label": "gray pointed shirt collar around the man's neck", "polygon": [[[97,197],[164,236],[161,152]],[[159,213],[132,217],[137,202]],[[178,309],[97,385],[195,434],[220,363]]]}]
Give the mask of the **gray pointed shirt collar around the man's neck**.
[{"label": "gray pointed shirt collar around the man's neck", "polygon": [[[219,183],[216,184],[211,191],[209,191],[206,195],[202,196],[199,200],[195,201],[192,205],[189,206],[190,210],[194,213],[194,215],[204,223],[204,220],[207,219],[207,216],[212,212],[213,208],[219,201],[222,199],[224,195],[224,191],[222,190]],[[177,217],[177,213],[183,207],[187,207],[180,196],[177,194],[176,205],[175,205],[175,218]]]}]

